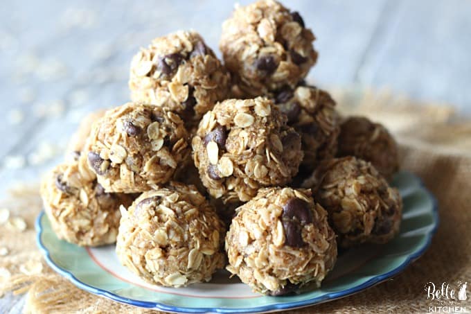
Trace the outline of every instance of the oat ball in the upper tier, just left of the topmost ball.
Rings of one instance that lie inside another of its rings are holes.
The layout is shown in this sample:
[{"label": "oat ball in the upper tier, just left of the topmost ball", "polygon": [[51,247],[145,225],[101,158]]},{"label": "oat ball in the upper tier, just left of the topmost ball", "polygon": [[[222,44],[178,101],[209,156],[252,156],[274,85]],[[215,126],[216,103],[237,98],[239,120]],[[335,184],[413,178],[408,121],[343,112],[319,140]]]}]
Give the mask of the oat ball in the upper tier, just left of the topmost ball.
[{"label": "oat ball in the upper tier, just left of the topmost ball", "polygon": [[226,98],[229,80],[202,37],[181,30],[156,38],[134,55],[129,86],[133,101],[159,105],[197,125],[216,101]]}]

